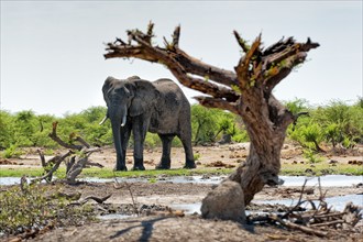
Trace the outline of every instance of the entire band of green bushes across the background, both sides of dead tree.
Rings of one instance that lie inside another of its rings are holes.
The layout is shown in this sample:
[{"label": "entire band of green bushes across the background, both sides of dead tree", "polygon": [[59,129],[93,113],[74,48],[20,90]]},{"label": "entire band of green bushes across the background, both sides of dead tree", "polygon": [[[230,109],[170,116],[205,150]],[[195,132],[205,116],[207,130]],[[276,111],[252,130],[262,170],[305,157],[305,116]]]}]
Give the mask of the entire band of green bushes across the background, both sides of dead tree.
[{"label": "entire band of green bushes across the background, both sides of dead tree", "polygon": [[[296,125],[289,127],[288,138],[306,148],[316,151],[319,151],[322,143],[332,144],[333,147],[337,145],[353,147],[356,143],[363,143],[362,103],[362,99],[354,105],[331,101],[327,106],[312,108],[304,99],[286,102],[293,114],[309,112],[309,116],[301,116]],[[36,116],[30,110],[14,114],[1,110],[0,150],[3,151],[3,156],[11,157],[16,156],[16,147],[41,146],[51,150],[58,147],[48,138],[54,121],[58,121],[62,127],[57,134],[63,140],[67,140],[69,133],[74,133],[82,136],[94,146],[110,145],[113,143],[110,122],[99,125],[106,112],[106,107],[91,107],[80,113],[68,113],[64,118],[56,118]],[[231,135],[234,142],[249,141],[241,117],[219,109],[207,109],[200,105],[191,106],[191,128],[195,144],[216,143],[223,134]],[[147,133],[146,147],[161,145],[157,134]],[[183,146],[180,140],[174,139],[173,146]]]}]

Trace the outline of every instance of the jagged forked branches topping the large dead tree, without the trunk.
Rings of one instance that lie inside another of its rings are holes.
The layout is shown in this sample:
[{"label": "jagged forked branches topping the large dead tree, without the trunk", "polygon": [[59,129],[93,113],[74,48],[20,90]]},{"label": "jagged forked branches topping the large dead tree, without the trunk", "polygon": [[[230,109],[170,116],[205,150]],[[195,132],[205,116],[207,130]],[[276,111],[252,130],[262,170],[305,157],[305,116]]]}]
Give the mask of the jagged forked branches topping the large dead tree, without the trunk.
[{"label": "jagged forked branches topping the large dead tree, without the trunk", "polygon": [[[105,58],[135,57],[165,65],[172,74],[186,87],[201,91],[210,99],[197,98],[202,105],[223,108],[235,112],[235,103],[243,102],[242,90],[251,87],[264,92],[268,99],[274,87],[284,79],[292,69],[302,63],[306,53],[319,46],[310,38],[306,43],[297,43],[293,37],[280,40],[267,48],[263,48],[261,34],[250,46],[240,34],[233,34],[245,53],[234,72],[206,64],[186,54],[179,48],[180,26],[176,26],[172,40],[164,37],[164,47],[152,44],[154,24],[150,23],[146,33],[140,30],[127,31],[129,42],[117,38],[107,44]],[[235,88],[237,87],[237,88]],[[239,89],[242,91],[237,91]],[[227,105],[229,102],[230,105]],[[222,105],[221,105],[222,103]]]}]

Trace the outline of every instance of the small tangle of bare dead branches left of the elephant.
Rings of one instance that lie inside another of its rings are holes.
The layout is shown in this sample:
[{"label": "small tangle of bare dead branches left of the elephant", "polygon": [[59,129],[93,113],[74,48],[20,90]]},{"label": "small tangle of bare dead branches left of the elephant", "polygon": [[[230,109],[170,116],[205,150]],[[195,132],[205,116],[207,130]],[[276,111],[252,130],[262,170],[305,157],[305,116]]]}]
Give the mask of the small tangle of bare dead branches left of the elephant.
[{"label": "small tangle of bare dead branches left of the elephant", "polygon": [[[56,143],[58,143],[61,146],[69,148],[69,151],[63,155],[56,155],[48,162],[46,162],[44,154],[38,150],[37,152],[41,157],[42,166],[46,174],[33,179],[32,183],[41,182],[43,179],[45,179],[47,183],[52,182],[53,173],[56,172],[59,168],[62,162],[66,161],[66,158],[69,156],[72,157],[66,163],[66,180],[68,184],[75,184],[76,177],[86,166],[97,166],[101,168],[103,167],[103,165],[90,162],[88,160],[94,152],[100,151],[99,147],[91,147],[82,138],[75,135],[74,133],[69,135],[73,143],[67,143],[63,141],[57,135],[57,125],[58,122],[53,122],[52,133],[50,133],[48,136]],[[80,144],[74,144],[75,142],[78,142]]]}]

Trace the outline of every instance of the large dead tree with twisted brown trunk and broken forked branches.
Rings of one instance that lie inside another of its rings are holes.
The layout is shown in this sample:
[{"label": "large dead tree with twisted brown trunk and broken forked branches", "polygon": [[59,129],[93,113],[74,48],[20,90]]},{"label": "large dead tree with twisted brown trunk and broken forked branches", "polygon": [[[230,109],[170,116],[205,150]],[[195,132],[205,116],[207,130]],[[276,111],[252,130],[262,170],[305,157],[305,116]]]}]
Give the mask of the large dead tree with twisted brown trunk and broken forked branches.
[{"label": "large dead tree with twisted brown trunk and broken forked branches", "polygon": [[207,95],[196,97],[202,106],[241,116],[251,141],[250,154],[229,179],[241,185],[244,204],[250,204],[264,185],[278,183],[286,130],[299,116],[282,106],[272,91],[319,44],[310,38],[298,43],[288,37],[264,48],[261,34],[249,45],[234,31],[244,55],[232,72],[206,64],[179,48],[180,26],[170,41],[164,37],[164,47],[154,45],[153,26],[150,23],[146,32],[127,31],[127,42],[117,38],[108,43],[105,58],[134,57],[165,65],[180,84]]}]

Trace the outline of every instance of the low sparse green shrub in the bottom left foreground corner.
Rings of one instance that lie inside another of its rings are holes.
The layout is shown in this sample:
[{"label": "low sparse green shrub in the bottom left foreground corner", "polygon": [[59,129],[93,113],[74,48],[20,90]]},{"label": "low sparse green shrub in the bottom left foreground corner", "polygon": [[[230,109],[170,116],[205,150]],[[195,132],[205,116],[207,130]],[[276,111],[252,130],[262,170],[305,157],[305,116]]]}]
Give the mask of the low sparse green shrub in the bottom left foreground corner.
[{"label": "low sparse green shrub in the bottom left foreground corner", "polygon": [[64,221],[77,224],[85,216],[87,206],[68,206],[69,201],[53,193],[51,196],[42,185],[14,186],[0,193],[0,233],[21,233],[41,229],[51,222],[63,226]]}]

